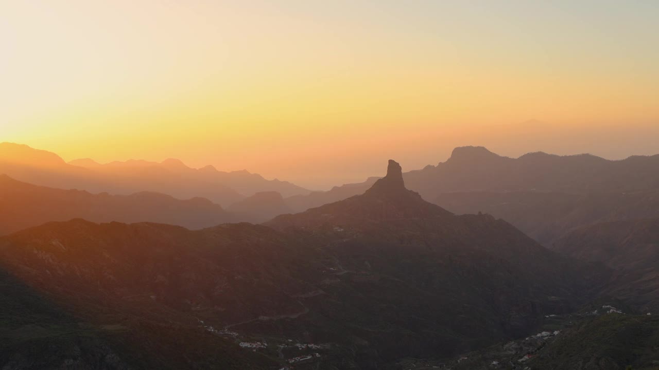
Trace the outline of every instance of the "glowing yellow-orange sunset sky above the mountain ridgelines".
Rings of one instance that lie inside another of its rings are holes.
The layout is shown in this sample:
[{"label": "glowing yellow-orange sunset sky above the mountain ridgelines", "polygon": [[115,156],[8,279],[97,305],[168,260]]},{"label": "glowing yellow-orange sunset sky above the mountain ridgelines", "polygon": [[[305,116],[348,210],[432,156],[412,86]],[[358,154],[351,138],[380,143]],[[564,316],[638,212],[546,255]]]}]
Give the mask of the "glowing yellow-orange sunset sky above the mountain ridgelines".
[{"label": "glowing yellow-orange sunset sky above the mountain ridgelines", "polygon": [[0,142],[325,189],[659,153],[659,1],[0,0]]}]

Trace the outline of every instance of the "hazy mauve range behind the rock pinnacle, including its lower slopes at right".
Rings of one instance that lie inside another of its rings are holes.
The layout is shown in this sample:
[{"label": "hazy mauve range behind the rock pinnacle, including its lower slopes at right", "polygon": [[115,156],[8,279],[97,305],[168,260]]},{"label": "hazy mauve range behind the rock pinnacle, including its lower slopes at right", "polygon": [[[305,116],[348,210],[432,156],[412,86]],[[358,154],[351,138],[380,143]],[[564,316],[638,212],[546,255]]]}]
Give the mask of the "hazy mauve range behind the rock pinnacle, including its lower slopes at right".
[{"label": "hazy mauve range behind the rock pinnacle, including its lower slopes at right", "polygon": [[[458,214],[489,213],[547,246],[574,228],[659,217],[659,155],[608,161],[594,155],[501,157],[457,147],[436,166],[403,173],[422,198]],[[286,198],[293,211],[364,192],[377,178]]]}]

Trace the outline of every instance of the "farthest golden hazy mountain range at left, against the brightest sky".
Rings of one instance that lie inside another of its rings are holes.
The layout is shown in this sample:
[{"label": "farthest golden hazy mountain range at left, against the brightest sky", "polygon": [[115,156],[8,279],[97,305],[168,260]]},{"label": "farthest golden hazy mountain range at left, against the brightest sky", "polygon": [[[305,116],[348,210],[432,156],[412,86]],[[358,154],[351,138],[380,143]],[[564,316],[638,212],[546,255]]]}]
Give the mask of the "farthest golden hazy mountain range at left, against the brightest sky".
[{"label": "farthest golden hazy mountain range at left, against the brightest sky", "polygon": [[122,195],[159,192],[179,199],[207,198],[223,206],[256,192],[277,191],[287,196],[309,192],[247,171],[221,172],[211,166],[192,169],[176,159],[162,163],[127,161],[100,165],[90,159],[66,163],[55,153],[11,143],[0,144],[0,174],[51,188]]}]

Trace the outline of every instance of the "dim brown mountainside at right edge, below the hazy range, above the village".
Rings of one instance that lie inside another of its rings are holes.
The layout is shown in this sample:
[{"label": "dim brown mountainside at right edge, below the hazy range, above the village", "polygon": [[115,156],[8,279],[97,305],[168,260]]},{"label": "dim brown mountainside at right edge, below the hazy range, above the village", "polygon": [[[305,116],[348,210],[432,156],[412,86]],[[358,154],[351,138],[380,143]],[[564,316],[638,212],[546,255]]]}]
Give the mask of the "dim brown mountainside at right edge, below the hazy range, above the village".
[{"label": "dim brown mountainside at right edge, below the hazy range, above the village", "polygon": [[659,218],[599,223],[561,238],[552,247],[616,271],[608,294],[641,307],[659,308]]}]

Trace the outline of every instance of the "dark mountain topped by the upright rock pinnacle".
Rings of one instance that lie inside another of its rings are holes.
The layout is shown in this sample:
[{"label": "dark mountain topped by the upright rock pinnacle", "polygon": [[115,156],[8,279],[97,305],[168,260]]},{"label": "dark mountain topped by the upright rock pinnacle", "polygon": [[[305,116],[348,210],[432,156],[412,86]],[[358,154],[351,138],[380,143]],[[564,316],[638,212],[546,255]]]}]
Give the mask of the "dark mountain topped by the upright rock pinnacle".
[{"label": "dark mountain topped by the upright rock pinnacle", "polygon": [[[586,293],[598,285],[585,280],[585,275],[592,273],[591,267],[572,265],[504,221],[488,215],[453,216],[423,201],[405,189],[400,167],[394,162],[389,163],[387,176],[363,195],[296,215],[281,215],[266,225],[310,240],[322,238],[328,242],[324,249],[341,261],[337,271],[357,281],[362,274],[414,280],[414,288],[405,288],[411,302],[424,300],[442,312],[441,318],[418,311],[416,317],[434,317],[434,325],[442,323],[456,337],[492,338],[490,335],[498,331],[492,327],[495,321],[506,328],[504,331],[521,334],[534,325],[532,312],[567,310],[579,301],[570,292]],[[499,283],[490,284],[495,281]],[[396,291],[403,294],[401,288]],[[418,290],[429,295],[415,296],[413,292]],[[435,294],[442,298],[436,300]],[[517,304],[533,303],[511,305],[515,300],[521,300]],[[407,302],[391,304],[401,311],[415,311]],[[382,315],[377,310],[366,311],[372,316]],[[488,321],[497,315],[502,316]],[[401,354],[394,348],[389,350]]]}]

